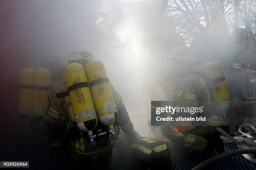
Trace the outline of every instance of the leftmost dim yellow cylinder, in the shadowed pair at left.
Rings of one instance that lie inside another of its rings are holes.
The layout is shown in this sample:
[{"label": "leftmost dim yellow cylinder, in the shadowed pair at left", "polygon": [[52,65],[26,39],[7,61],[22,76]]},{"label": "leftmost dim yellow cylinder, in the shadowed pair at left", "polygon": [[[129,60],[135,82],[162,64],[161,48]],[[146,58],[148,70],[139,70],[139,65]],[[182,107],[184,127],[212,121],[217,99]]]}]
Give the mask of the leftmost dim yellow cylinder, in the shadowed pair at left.
[{"label": "leftmost dim yellow cylinder, in the shadowed pair at left", "polygon": [[20,71],[19,112],[22,115],[33,113],[33,75],[35,70],[25,67]]}]

